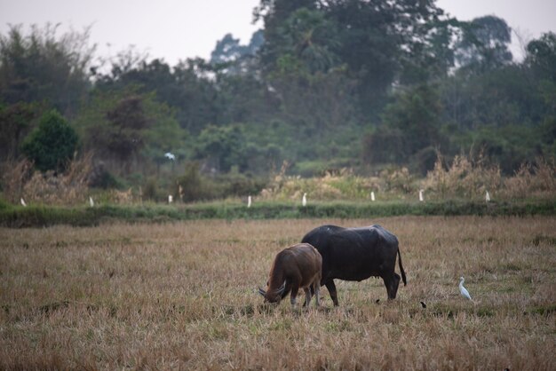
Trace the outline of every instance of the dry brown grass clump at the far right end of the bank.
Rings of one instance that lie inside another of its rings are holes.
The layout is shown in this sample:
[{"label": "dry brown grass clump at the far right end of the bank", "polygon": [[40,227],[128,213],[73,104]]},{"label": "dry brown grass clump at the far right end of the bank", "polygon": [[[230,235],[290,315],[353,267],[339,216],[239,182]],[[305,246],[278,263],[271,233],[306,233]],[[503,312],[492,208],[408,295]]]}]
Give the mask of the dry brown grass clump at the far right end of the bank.
[{"label": "dry brown grass clump at the far right end of the bank", "polygon": [[554,197],[556,163],[537,157],[535,164],[524,163],[512,178],[504,182],[504,195],[512,198]]}]

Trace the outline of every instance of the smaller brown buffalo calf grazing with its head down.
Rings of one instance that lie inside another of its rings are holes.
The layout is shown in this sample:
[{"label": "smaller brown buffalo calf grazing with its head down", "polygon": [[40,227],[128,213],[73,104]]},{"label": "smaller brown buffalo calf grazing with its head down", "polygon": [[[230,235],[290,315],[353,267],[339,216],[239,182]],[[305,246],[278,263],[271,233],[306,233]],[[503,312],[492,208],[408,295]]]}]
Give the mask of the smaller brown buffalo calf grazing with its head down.
[{"label": "smaller brown buffalo calf grazing with its head down", "polygon": [[[311,302],[311,293],[316,297],[316,306],[321,304],[321,268],[322,257],[313,246],[308,243],[298,243],[288,249],[283,249],[274,258],[274,263],[268,275],[266,290],[258,288],[258,293],[269,303],[280,303],[290,295],[291,306],[295,306],[299,288],[305,291],[305,304]],[[309,288],[312,288],[309,289]]]}]

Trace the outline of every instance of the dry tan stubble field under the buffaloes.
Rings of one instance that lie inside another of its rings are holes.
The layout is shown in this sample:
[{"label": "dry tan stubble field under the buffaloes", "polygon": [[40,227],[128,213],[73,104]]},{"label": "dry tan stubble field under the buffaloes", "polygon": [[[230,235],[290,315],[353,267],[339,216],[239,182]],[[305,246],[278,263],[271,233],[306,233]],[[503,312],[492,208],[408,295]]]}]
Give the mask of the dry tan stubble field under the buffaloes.
[{"label": "dry tan stubble field under the buffaloes", "polygon": [[[398,236],[395,301],[369,279],[338,308],[262,304],[275,254],[325,223]],[[0,304],[0,369],[554,370],[556,217],[0,229]]]}]

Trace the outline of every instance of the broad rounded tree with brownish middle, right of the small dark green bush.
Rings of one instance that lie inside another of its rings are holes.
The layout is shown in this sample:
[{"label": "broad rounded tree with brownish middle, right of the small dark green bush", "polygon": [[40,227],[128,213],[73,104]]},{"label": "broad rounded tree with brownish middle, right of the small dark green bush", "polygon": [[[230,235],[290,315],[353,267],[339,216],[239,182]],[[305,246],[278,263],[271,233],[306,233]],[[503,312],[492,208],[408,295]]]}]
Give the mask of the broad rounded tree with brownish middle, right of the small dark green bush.
[{"label": "broad rounded tree with brownish middle, right of the small dark green bush", "polygon": [[154,93],[138,90],[96,90],[75,119],[85,150],[107,162],[110,170],[124,174],[129,174],[133,163],[147,171],[161,162],[165,152],[176,154],[187,135],[171,107]]}]

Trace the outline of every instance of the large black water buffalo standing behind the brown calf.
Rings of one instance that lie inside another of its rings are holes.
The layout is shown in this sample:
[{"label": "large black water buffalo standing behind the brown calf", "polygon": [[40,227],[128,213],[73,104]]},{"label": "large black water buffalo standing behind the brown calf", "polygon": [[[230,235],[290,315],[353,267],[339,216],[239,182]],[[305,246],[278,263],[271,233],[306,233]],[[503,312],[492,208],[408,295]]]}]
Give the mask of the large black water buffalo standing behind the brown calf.
[{"label": "large black water buffalo standing behind the brown calf", "polygon": [[395,299],[400,285],[400,276],[394,272],[396,255],[401,279],[407,285],[398,239],[380,225],[361,228],[322,225],[307,233],[301,242],[310,243],[321,253],[321,285],[328,288],[334,305],[338,305],[334,279],[361,281],[370,276],[382,277],[388,299]]}]

